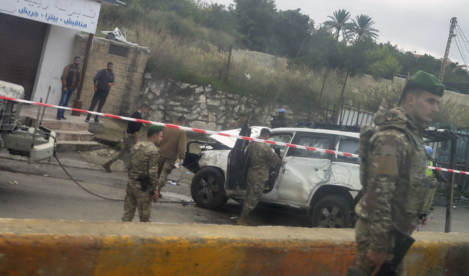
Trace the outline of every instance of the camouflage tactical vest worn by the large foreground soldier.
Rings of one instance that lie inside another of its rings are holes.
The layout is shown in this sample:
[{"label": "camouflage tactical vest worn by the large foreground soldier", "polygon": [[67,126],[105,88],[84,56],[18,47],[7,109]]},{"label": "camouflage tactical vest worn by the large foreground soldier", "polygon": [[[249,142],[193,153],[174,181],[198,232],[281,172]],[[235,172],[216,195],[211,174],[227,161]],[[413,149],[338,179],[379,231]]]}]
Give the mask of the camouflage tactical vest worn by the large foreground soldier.
[{"label": "camouflage tactical vest worn by the large foreground soldier", "polygon": [[409,138],[415,150],[408,152],[407,158],[400,165],[405,171],[400,171],[392,199],[393,205],[399,205],[409,213],[424,214],[430,208],[435,195],[436,184],[426,175],[426,149],[419,136],[410,131],[407,124],[385,124],[379,130],[371,126],[360,129],[360,182],[363,191],[367,187],[367,162],[370,160],[371,147],[379,137],[379,133],[386,129],[398,129]]}]

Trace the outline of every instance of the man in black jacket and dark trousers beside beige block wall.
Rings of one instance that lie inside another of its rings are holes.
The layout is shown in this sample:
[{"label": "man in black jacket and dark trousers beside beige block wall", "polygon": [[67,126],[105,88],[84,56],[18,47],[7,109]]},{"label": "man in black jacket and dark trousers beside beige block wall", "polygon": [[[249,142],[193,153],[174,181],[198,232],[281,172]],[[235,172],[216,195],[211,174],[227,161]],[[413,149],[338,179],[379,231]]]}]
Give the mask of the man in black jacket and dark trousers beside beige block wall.
[{"label": "man in black jacket and dark trousers beside beige block wall", "polygon": [[[106,69],[101,69],[93,78],[94,83],[94,96],[91,100],[91,106],[88,111],[92,111],[96,105],[98,108],[96,112],[101,112],[104,103],[106,103],[106,98],[109,95],[109,90],[111,86],[114,84],[114,64],[112,62],[108,62]],[[99,103],[98,103],[99,102]],[[94,115],[94,122],[99,123],[98,120],[99,115]],[[88,113],[85,122],[90,122],[91,114]]]}]

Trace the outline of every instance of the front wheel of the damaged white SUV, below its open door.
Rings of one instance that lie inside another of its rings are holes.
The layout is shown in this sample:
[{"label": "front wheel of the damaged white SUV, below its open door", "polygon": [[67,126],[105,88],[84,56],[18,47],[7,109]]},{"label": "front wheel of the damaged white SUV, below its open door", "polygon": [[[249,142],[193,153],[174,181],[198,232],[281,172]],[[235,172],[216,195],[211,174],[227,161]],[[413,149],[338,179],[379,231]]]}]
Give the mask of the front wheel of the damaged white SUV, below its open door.
[{"label": "front wheel of the damaged white SUV, below its open door", "polygon": [[202,168],[190,183],[190,196],[203,208],[218,208],[228,201],[225,194],[225,177],[216,168]]}]

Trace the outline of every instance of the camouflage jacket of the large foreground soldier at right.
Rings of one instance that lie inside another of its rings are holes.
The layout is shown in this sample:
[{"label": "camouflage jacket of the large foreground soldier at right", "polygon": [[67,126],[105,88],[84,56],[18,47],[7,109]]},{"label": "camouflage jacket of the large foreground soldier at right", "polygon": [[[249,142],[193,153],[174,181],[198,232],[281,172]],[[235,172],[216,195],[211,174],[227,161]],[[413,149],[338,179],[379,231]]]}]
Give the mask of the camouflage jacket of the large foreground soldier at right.
[{"label": "camouflage jacket of the large foreground soldier at right", "polygon": [[373,120],[381,130],[370,139],[367,187],[363,187],[364,196],[356,205],[356,215],[370,225],[370,249],[386,252],[391,227],[410,235],[433,194],[423,187],[423,126],[403,108],[388,110],[380,106]]}]

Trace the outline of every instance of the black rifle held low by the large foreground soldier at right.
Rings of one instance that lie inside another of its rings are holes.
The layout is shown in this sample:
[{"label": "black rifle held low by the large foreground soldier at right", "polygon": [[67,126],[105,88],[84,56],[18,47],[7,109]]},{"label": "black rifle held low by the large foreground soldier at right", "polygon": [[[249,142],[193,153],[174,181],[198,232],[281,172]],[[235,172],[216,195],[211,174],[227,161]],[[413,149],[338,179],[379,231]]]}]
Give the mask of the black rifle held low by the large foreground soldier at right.
[{"label": "black rifle held low by the large foreground soldier at right", "polygon": [[394,237],[394,247],[392,249],[393,259],[391,262],[386,261],[383,263],[383,266],[381,266],[381,269],[377,274],[378,276],[397,276],[395,269],[398,268],[399,263],[404,259],[407,250],[409,250],[415,242],[414,238],[409,235],[405,235],[405,233],[399,231],[395,226],[393,226],[393,229],[391,230],[391,235]]}]

